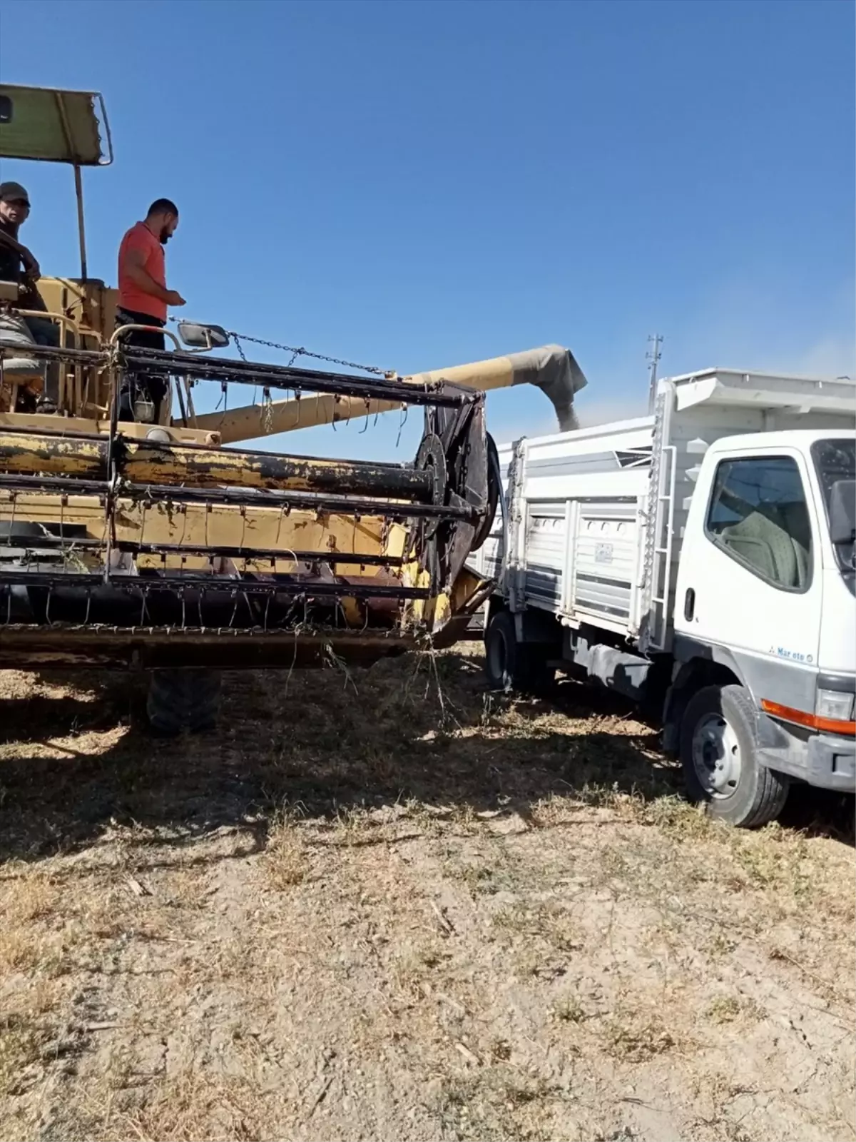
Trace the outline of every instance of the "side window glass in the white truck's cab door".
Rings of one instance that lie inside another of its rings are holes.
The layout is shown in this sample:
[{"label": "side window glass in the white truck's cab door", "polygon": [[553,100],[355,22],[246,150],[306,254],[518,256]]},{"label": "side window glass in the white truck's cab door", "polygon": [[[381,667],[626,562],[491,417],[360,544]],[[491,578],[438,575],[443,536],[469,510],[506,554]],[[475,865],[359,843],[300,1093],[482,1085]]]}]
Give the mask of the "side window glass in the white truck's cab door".
[{"label": "side window glass in the white truck's cab door", "polygon": [[706,532],[717,547],[776,587],[805,590],[811,580],[811,524],[790,457],[722,460]]}]

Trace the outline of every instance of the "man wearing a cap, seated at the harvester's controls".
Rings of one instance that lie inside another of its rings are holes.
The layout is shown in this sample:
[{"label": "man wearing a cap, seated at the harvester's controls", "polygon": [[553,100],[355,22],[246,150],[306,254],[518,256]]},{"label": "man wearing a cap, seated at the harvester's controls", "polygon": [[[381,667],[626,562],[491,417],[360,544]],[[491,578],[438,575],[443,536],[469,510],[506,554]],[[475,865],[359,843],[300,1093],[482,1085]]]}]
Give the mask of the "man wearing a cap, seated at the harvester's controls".
[{"label": "man wearing a cap, seated at the harvester's controls", "polygon": [[[30,217],[30,195],[21,183],[0,183],[0,281],[18,286],[16,308],[46,312],[47,306],[35,282],[40,276],[39,263],[32,252],[18,241],[18,231]],[[19,317],[6,313],[2,319],[2,335],[22,347],[27,343],[57,347],[59,330],[48,317]],[[34,372],[42,376],[43,368],[33,362]],[[58,397],[56,364],[48,369],[48,391],[41,393],[37,408],[40,412],[55,412]],[[32,391],[35,385],[30,386]]]}]

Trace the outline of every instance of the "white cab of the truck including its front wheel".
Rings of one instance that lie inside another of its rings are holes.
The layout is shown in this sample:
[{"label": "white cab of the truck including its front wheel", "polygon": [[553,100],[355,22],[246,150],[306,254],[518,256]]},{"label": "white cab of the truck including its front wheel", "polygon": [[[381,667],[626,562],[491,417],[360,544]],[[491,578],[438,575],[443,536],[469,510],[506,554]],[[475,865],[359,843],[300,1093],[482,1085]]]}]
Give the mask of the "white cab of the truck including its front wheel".
[{"label": "white cab of the truck including its front wheel", "polygon": [[710,445],[673,628],[667,735],[691,793],[752,823],[792,779],[856,791],[856,431]]}]

